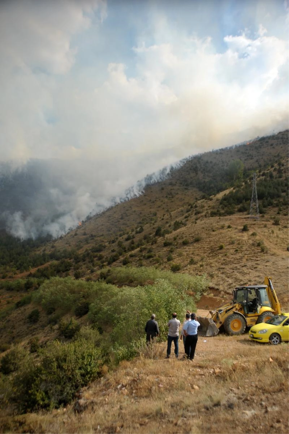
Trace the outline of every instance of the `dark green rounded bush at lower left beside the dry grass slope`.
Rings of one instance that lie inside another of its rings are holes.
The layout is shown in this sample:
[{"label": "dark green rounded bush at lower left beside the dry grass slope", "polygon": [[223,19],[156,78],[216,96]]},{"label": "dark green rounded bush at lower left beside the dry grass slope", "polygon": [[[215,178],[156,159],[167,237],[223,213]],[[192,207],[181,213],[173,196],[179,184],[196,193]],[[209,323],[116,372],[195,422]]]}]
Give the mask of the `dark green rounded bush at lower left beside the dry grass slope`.
[{"label": "dark green rounded bush at lower left beside the dry grass slope", "polygon": [[97,378],[100,366],[101,350],[88,340],[51,342],[39,350],[37,364],[27,363],[16,374],[14,400],[22,411],[68,404],[79,388]]}]

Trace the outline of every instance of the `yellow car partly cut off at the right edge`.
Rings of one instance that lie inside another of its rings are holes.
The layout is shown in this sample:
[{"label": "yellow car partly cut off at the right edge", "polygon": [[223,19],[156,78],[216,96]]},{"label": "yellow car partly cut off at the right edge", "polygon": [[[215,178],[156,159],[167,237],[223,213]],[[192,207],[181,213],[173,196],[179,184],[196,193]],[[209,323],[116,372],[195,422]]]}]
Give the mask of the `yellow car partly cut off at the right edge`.
[{"label": "yellow car partly cut off at the right edge", "polygon": [[266,322],[252,325],[249,338],[252,341],[270,342],[273,345],[289,341],[289,313],[281,313]]}]

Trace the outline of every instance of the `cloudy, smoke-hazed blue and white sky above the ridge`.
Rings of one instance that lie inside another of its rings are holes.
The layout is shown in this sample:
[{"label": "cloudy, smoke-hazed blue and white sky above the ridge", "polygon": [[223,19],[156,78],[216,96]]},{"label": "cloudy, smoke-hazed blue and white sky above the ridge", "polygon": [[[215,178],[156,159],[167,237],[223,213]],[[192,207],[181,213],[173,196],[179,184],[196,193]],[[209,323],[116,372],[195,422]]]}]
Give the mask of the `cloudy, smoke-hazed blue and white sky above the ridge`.
[{"label": "cloudy, smoke-hazed blue and white sky above the ridge", "polygon": [[287,0],[2,1],[0,41],[0,161],[61,161],[84,212],[289,128]]}]

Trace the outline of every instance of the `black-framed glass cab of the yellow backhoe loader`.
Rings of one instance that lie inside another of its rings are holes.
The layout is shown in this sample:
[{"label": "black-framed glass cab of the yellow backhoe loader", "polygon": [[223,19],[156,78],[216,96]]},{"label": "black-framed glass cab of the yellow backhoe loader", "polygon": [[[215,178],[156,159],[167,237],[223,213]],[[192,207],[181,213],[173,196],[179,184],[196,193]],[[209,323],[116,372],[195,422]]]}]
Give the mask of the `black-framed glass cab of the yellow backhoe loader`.
[{"label": "black-framed glass cab of the yellow backhoe loader", "polygon": [[260,307],[271,307],[266,285],[239,286],[233,291],[233,303],[240,303],[244,313],[259,313]]}]

